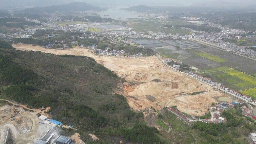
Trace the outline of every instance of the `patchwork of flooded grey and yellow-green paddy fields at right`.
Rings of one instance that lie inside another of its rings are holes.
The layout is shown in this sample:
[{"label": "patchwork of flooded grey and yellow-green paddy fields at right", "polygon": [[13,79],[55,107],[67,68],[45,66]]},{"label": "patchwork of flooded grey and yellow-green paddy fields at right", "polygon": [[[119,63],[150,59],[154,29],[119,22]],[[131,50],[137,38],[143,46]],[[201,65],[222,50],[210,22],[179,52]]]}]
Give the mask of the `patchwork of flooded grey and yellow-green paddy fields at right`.
[{"label": "patchwork of flooded grey and yellow-green paddy fields at right", "polygon": [[[135,41],[137,43],[147,41]],[[196,73],[211,77],[230,89],[238,90],[256,99],[256,62],[243,56],[210,48],[189,40],[154,40],[150,47],[165,58],[173,58],[194,66]],[[161,45],[164,45],[161,47]]]}]

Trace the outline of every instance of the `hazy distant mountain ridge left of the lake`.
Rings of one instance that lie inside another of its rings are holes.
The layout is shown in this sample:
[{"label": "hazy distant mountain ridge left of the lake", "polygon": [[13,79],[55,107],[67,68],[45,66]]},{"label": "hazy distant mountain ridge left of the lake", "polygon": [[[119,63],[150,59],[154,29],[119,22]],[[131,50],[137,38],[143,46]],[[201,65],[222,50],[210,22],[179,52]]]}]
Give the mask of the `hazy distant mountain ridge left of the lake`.
[{"label": "hazy distant mountain ridge left of the lake", "polygon": [[53,13],[53,12],[68,12],[68,11],[103,11],[105,8],[94,6],[85,2],[73,2],[69,4],[52,5],[46,7],[26,8],[18,11],[21,13]]}]

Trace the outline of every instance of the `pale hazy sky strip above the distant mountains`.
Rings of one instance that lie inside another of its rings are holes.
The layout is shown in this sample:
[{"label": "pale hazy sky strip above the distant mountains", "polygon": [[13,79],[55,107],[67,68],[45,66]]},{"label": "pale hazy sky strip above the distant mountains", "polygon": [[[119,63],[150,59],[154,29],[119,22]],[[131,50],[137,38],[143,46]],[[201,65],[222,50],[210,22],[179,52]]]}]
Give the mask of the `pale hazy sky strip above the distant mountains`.
[{"label": "pale hazy sky strip above the distant mountains", "polygon": [[[214,5],[223,4],[223,6],[245,6],[256,5],[256,0],[0,0],[3,5],[10,6],[49,6],[66,4],[70,2],[86,2],[98,6],[188,6],[188,5]],[[217,2],[216,2],[217,1]]]}]

